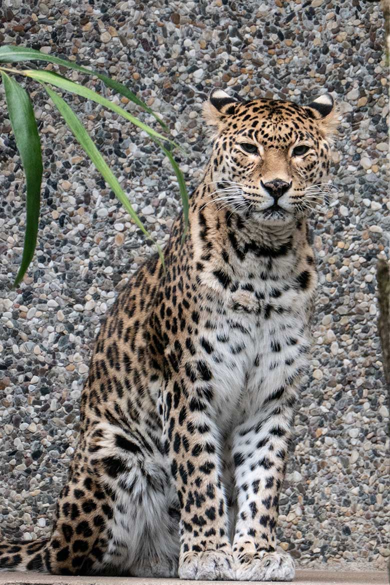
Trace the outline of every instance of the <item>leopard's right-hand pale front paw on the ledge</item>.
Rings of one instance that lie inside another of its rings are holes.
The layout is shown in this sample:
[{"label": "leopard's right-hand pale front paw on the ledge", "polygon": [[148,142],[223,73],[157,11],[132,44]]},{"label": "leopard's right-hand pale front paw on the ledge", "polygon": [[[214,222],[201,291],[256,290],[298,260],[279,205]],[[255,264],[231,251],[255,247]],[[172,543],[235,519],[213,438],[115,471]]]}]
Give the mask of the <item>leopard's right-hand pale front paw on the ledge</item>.
[{"label": "leopard's right-hand pale front paw on the ledge", "polygon": [[295,564],[285,552],[245,554],[236,560],[237,581],[292,581]]}]

